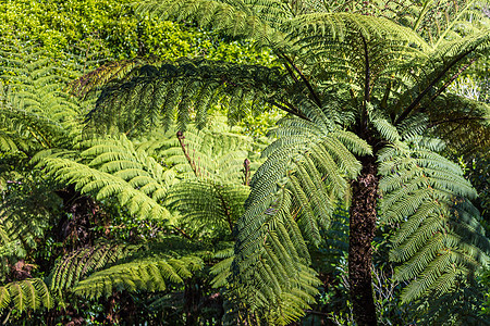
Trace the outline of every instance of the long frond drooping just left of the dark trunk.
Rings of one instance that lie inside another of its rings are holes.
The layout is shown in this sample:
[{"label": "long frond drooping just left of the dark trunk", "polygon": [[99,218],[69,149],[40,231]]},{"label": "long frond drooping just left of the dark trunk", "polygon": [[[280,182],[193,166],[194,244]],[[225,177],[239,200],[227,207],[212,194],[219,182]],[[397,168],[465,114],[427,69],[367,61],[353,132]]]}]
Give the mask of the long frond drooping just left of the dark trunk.
[{"label": "long frond drooping just left of the dark trunk", "polygon": [[275,130],[281,137],[266,149],[268,160],[254,175],[236,226],[233,279],[252,311],[269,308],[268,323],[287,324],[311,302],[317,280],[306,241],[319,242],[334,201],[347,191],[345,177],[359,173],[353,152],[370,153],[320,109],[307,108],[315,123],[287,118]]}]

